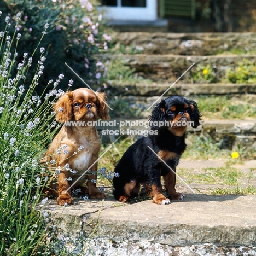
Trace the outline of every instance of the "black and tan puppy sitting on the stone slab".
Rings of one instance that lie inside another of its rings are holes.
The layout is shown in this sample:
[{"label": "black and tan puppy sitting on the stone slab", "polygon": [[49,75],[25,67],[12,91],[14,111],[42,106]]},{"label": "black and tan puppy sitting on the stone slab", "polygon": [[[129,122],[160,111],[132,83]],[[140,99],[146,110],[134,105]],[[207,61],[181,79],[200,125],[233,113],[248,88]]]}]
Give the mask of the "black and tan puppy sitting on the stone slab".
[{"label": "black and tan puppy sitting on the stone slab", "polygon": [[183,199],[183,195],[175,190],[175,171],[186,148],[187,126],[196,128],[200,125],[197,104],[182,96],[168,97],[155,104],[149,121],[154,135],[139,138],[115,167],[113,193],[115,199],[121,202],[128,202],[138,195],[142,184],[144,189],[151,192],[153,203],[170,203],[162,194],[161,176],[169,198]]}]

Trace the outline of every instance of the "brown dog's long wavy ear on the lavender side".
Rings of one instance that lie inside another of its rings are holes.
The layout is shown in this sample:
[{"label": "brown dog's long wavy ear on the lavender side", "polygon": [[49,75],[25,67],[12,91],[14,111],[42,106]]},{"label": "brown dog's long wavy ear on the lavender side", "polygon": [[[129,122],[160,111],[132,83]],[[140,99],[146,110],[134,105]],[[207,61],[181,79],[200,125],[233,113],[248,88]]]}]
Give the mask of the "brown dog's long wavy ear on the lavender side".
[{"label": "brown dog's long wavy ear on the lavender side", "polygon": [[72,100],[73,92],[68,91],[66,94],[60,96],[59,100],[54,104],[54,111],[56,112],[56,121],[65,123],[72,119]]}]

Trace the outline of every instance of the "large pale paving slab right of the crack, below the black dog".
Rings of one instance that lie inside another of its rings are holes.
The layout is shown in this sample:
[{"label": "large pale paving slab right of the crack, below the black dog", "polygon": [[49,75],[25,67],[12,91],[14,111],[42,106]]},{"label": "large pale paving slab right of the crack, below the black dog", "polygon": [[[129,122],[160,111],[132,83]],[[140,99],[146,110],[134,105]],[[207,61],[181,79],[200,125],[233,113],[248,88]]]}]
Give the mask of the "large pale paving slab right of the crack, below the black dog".
[{"label": "large pale paving slab right of the crack, below the black dog", "polygon": [[256,196],[186,194],[185,200],[155,205],[151,200],[89,214],[83,226],[89,235],[111,240],[188,246],[256,245]]}]

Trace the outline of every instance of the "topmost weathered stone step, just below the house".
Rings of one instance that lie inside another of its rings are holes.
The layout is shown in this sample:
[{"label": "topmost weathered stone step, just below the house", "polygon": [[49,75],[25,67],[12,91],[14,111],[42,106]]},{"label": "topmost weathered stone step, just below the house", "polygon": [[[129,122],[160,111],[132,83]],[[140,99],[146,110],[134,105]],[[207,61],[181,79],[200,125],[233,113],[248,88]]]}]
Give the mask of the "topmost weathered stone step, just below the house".
[{"label": "topmost weathered stone step, just below the house", "polygon": [[256,33],[113,33],[113,42],[138,46],[143,54],[214,55],[255,50]]}]

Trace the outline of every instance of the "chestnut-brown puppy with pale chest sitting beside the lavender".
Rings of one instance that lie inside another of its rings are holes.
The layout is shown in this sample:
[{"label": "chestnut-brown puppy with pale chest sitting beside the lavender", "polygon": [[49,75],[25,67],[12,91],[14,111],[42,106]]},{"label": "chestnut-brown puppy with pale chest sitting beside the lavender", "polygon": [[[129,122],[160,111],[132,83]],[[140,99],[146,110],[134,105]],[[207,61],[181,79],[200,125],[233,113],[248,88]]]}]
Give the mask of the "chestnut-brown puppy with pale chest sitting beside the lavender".
[{"label": "chestnut-brown puppy with pale chest sitting beside the lavender", "polygon": [[[96,161],[101,141],[95,126],[91,125],[97,118],[110,119],[105,97],[103,92],[79,88],[66,92],[54,104],[56,121],[65,124],[50,144],[45,158],[49,168],[58,174],[57,183],[50,185],[57,190],[58,205],[71,204],[70,186],[73,183],[72,190],[80,188],[83,194],[94,199],[105,197],[96,187]],[[91,174],[78,180],[91,165]],[[82,187],[84,182],[87,182],[87,187]]]}]

